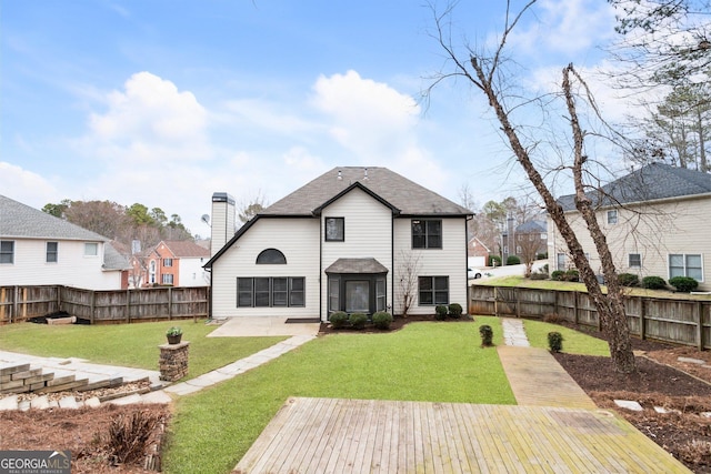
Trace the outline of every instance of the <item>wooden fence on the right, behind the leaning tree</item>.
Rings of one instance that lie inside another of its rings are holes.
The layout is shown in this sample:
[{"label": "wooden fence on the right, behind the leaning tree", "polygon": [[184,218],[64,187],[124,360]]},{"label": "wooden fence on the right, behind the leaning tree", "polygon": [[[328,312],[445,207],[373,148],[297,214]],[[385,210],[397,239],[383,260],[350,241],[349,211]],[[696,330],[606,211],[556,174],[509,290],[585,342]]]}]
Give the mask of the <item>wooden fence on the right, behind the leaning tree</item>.
[{"label": "wooden fence on the right, behind the leaning tree", "polygon": [[[711,300],[625,296],[630,332],[699,350],[711,349]],[[587,293],[524,288],[470,286],[469,313],[564,321],[600,329],[598,311]]]}]

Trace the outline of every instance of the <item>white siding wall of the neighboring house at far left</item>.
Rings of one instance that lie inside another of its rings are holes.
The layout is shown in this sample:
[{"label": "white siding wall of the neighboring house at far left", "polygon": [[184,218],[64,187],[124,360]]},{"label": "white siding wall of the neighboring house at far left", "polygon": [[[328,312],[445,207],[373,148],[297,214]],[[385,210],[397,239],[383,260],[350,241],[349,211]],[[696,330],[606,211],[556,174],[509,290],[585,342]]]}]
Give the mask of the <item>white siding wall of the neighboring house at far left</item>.
[{"label": "white siding wall of the neighboring house at far left", "polygon": [[83,241],[51,240],[59,242],[57,263],[47,262],[47,242],[14,239],[14,263],[0,264],[0,285],[61,284],[86,290],[121,288],[121,272],[101,269],[102,242],[98,242],[98,255],[84,256]]}]

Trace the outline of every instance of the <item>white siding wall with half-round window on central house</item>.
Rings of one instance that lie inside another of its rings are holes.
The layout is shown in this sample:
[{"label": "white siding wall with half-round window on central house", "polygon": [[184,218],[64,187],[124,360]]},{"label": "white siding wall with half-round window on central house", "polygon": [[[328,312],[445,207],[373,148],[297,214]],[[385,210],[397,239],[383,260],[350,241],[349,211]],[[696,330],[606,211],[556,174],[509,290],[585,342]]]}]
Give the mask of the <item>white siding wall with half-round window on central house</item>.
[{"label": "white siding wall with half-round window on central house", "polygon": [[[262,250],[277,249],[286,265],[257,265]],[[237,307],[238,276],[304,276],[304,307]],[[260,219],[212,266],[212,316],[319,315],[319,220]]]}]

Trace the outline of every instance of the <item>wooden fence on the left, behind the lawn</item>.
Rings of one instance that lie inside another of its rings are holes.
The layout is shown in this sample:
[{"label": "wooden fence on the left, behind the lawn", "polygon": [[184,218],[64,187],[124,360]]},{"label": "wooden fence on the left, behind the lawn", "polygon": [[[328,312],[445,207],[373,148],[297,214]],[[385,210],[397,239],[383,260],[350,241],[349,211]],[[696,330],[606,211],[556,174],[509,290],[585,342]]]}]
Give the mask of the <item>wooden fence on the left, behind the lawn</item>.
[{"label": "wooden fence on the left, behind the lawn", "polygon": [[61,285],[0,286],[0,324],[56,312],[101,323],[193,320],[209,316],[210,288],[93,291]]}]

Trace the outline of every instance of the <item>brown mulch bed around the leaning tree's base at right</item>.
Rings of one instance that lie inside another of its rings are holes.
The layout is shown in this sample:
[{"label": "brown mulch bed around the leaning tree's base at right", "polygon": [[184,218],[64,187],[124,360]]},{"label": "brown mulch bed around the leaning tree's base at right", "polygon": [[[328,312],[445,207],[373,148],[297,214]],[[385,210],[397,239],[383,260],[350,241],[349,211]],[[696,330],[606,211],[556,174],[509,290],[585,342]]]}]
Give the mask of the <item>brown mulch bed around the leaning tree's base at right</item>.
[{"label": "brown mulch bed around the leaning tree's base at right", "polygon": [[[642,354],[632,375],[615,373],[610,357],[554,356],[598,406],[619,413],[691,471],[711,473],[711,417],[705,415],[711,414],[711,366],[679,361],[708,363],[711,353],[639,339],[632,339],[632,346]],[[643,411],[620,409],[614,400],[639,402]]]}]

